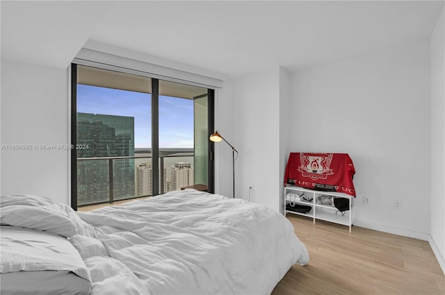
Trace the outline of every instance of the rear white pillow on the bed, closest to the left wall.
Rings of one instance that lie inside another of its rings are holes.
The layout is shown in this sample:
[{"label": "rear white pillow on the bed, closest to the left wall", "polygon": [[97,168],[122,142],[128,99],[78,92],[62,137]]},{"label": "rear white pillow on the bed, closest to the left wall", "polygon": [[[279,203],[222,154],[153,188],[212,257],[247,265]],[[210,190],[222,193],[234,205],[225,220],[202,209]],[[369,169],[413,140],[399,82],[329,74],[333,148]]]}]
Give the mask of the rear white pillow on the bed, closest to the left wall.
[{"label": "rear white pillow on the bed, closest to the left wall", "polygon": [[[67,205],[29,194],[0,197],[0,224],[43,230],[63,237],[76,235],[76,223]],[[71,208],[69,208],[72,210]]]}]

